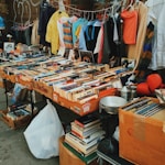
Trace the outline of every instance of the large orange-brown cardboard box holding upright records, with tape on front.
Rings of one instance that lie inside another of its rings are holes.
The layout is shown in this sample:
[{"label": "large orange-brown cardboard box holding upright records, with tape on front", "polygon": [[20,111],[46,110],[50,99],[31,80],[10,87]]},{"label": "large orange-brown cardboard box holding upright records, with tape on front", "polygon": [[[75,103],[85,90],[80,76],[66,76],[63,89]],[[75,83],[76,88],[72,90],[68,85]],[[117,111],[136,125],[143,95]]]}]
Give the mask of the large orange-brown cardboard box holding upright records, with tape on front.
[{"label": "large orange-brown cardboard box holding upright records, with tape on front", "polygon": [[165,110],[144,117],[120,108],[119,128],[121,157],[140,165],[165,164]]}]

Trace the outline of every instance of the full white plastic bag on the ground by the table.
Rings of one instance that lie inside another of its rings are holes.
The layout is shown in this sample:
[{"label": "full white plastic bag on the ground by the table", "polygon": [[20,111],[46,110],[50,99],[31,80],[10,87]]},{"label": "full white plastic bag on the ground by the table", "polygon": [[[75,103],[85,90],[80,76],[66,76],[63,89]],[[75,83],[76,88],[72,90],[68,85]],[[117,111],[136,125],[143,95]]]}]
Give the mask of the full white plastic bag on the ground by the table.
[{"label": "full white plastic bag on the ground by the table", "polygon": [[63,125],[55,107],[50,101],[24,131],[29,148],[36,158],[58,156],[58,139],[62,135],[64,135]]}]

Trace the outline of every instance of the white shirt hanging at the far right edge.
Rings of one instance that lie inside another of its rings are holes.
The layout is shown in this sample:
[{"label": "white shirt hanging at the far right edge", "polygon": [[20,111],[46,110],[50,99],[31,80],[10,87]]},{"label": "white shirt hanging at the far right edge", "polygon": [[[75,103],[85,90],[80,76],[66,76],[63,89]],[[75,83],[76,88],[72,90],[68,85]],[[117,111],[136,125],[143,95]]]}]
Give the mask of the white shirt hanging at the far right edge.
[{"label": "white shirt hanging at the far right edge", "polygon": [[153,70],[165,68],[165,0],[147,0],[148,22],[154,24],[154,41],[152,46],[152,62],[150,68]]}]

